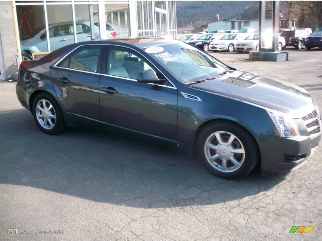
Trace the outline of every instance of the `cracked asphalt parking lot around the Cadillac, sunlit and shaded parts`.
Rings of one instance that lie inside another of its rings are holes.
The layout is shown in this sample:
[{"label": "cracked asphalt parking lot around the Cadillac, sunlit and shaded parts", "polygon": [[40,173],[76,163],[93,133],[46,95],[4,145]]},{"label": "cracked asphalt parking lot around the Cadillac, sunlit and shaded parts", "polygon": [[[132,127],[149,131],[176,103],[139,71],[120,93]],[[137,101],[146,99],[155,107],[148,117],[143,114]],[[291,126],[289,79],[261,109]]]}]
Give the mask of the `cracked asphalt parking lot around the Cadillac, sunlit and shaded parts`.
[{"label": "cracked asphalt parking lot around the Cadillac, sunlit and shaded parts", "polygon": [[[308,90],[322,110],[322,49],[287,62],[209,52],[232,67]],[[0,239],[321,240],[322,147],[287,175],[228,181],[194,156],[113,133],[50,136],[0,82]],[[272,150],[274,151],[274,150]],[[290,233],[313,226],[310,233]]]}]

